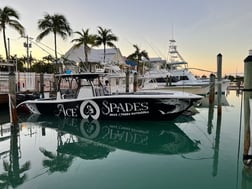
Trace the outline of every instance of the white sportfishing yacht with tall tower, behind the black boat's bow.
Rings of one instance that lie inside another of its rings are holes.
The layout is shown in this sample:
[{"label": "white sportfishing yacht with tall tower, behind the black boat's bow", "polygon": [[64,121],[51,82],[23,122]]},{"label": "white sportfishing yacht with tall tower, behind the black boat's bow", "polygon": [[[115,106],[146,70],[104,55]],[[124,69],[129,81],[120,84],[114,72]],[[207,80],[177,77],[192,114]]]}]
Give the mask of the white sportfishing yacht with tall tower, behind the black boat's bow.
[{"label": "white sportfishing yacht with tall tower, behind the black boat's bow", "polygon": [[[146,72],[143,76],[142,89],[170,89],[190,92],[198,95],[207,95],[210,89],[210,79],[198,79],[189,71],[188,63],[177,51],[175,40],[170,40],[169,61],[165,70]],[[206,70],[205,70],[206,71]],[[221,90],[225,94],[230,83],[228,79],[222,79]],[[217,93],[218,82],[215,82],[215,92]]]}]

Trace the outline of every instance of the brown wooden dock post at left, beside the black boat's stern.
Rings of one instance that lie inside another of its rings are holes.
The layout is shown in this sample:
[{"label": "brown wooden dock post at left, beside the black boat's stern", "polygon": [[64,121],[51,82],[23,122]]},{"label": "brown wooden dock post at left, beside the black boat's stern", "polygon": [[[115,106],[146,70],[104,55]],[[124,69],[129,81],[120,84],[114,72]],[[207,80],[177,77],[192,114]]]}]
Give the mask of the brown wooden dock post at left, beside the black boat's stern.
[{"label": "brown wooden dock post at left, beside the black boat's stern", "polygon": [[16,76],[14,72],[9,73],[9,112],[10,122],[12,126],[18,125],[17,111],[16,111]]}]

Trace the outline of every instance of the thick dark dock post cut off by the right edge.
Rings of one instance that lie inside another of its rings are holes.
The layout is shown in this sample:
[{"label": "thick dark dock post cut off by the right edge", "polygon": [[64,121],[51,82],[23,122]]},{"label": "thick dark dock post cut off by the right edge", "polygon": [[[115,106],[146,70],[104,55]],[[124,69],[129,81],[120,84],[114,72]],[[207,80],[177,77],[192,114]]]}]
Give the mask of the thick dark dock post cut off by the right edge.
[{"label": "thick dark dock post cut off by the right edge", "polygon": [[243,163],[246,166],[251,166],[252,161],[252,145],[250,133],[250,103],[252,99],[252,50],[244,59],[244,148],[243,148]]}]

